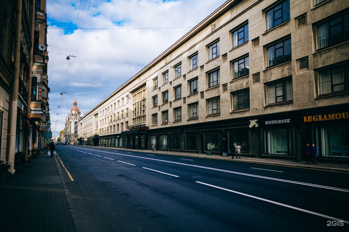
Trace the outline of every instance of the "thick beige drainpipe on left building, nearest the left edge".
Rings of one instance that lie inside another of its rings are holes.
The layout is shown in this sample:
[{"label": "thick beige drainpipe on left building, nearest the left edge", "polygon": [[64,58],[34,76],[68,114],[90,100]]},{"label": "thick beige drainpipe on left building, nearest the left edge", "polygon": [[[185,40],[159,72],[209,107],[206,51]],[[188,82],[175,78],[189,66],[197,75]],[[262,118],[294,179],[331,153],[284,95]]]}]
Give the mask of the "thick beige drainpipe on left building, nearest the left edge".
[{"label": "thick beige drainpipe on left building, nearest the left edge", "polygon": [[11,107],[9,117],[11,119],[9,129],[9,150],[7,154],[7,164],[11,165],[8,172],[15,173],[15,148],[16,148],[16,124],[17,124],[17,105],[18,105],[18,81],[20,74],[20,46],[21,46],[21,22],[22,22],[22,0],[17,0],[16,25],[15,25],[15,53],[14,53],[14,72],[11,93]]}]

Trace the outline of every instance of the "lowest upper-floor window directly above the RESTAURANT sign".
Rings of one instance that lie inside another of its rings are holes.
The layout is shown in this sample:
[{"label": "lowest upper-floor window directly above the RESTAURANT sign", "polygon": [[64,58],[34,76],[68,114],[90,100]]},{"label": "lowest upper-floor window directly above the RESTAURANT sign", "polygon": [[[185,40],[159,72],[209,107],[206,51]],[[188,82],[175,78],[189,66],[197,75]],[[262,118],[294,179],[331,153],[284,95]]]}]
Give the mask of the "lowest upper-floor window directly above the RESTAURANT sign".
[{"label": "lowest upper-floor window directly above the RESTAURANT sign", "polygon": [[293,99],[292,79],[268,85],[268,104],[291,101]]}]

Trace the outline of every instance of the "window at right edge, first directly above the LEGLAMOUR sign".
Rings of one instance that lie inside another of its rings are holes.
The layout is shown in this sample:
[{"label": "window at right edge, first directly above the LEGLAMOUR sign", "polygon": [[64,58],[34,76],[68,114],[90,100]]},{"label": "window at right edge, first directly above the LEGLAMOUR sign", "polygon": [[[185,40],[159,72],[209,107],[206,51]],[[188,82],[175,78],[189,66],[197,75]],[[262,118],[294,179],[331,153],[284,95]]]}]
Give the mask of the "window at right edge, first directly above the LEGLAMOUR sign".
[{"label": "window at right edge, first directly above the LEGLAMOUR sign", "polygon": [[349,90],[349,64],[319,71],[320,94]]}]

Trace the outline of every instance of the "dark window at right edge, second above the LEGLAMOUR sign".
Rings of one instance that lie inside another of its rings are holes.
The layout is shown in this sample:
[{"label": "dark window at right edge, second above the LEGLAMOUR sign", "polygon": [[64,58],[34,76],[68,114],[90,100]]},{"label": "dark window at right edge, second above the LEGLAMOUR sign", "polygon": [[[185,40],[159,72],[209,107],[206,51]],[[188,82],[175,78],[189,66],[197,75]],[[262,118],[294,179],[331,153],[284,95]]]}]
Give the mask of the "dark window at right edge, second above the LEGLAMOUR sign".
[{"label": "dark window at right edge, second above the LEGLAMOUR sign", "polygon": [[318,49],[349,40],[349,13],[318,26]]}]

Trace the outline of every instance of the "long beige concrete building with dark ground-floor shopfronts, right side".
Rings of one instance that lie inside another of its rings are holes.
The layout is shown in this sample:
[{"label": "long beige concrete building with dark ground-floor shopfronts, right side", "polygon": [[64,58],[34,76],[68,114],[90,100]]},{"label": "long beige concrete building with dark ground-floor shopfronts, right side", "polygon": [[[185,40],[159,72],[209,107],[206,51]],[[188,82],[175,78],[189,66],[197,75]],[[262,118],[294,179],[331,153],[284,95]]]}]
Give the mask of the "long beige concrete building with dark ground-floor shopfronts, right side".
[{"label": "long beige concrete building with dark ground-floor shopfronts, right side", "polygon": [[[85,114],[93,145],[349,160],[349,3],[232,0]],[[128,98],[129,101],[128,101]],[[129,111],[129,114],[128,114]]]}]

